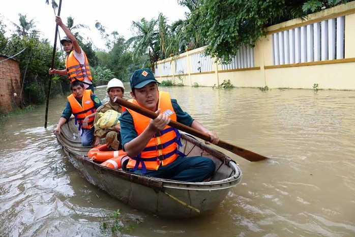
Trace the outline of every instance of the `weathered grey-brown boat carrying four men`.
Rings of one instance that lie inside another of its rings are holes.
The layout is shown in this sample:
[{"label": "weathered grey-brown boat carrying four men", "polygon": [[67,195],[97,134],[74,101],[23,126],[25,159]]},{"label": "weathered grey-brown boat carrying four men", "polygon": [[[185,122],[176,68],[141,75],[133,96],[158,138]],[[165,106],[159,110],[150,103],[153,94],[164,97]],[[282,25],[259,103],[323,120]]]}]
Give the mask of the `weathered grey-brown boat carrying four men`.
[{"label": "weathered grey-brown boat carrying four men", "polygon": [[205,214],[215,209],[242,179],[242,171],[233,160],[187,134],[182,134],[180,151],[188,156],[202,155],[215,162],[216,170],[210,182],[157,179],[102,166],[88,159],[87,152],[92,147],[81,146],[73,119],[61,130],[58,143],[85,180],[134,209],[158,216],[189,218]]}]

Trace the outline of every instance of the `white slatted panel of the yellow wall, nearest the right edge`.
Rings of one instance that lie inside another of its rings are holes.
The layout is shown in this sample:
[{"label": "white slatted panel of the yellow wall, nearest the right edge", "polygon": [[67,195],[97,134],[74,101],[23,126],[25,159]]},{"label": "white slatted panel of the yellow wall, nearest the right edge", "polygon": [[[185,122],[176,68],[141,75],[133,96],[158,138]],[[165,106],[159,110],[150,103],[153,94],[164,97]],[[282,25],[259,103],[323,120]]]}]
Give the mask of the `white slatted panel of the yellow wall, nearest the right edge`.
[{"label": "white slatted panel of the yellow wall, nearest the right edge", "polygon": [[345,17],[272,34],[274,65],[344,58]]}]

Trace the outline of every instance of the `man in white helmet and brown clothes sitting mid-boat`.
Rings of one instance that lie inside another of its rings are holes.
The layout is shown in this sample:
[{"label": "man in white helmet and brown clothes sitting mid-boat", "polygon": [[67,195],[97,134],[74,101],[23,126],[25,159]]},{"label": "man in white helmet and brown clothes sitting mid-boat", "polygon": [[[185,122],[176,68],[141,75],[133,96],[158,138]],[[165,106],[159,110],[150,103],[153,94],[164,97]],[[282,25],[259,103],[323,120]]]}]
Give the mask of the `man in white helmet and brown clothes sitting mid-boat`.
[{"label": "man in white helmet and brown clothes sitting mid-boat", "polygon": [[120,125],[115,125],[111,126],[109,128],[101,129],[97,125],[98,120],[100,119],[99,113],[104,113],[107,110],[115,110],[119,113],[122,113],[122,107],[121,105],[117,103],[113,103],[115,97],[123,97],[123,94],[125,92],[125,86],[123,85],[122,81],[113,78],[111,79],[108,84],[107,84],[107,93],[110,98],[110,101],[107,103],[101,105],[97,110],[96,110],[96,115],[95,115],[95,120],[94,120],[94,126],[95,126],[95,143],[94,145],[97,146],[100,144],[100,138],[105,138],[107,147],[110,147],[112,150],[117,151],[119,150],[120,146]]}]

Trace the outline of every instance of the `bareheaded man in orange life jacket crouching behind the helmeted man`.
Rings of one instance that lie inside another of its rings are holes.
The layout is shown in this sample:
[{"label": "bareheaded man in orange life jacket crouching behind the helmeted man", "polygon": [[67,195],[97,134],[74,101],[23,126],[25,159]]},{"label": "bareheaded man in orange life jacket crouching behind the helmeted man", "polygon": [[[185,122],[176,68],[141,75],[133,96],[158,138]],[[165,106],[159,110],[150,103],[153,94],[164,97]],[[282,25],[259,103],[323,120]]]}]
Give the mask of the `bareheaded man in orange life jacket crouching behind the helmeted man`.
[{"label": "bareheaded man in orange life jacket crouching behind the helmeted man", "polygon": [[67,106],[65,107],[58,125],[53,133],[61,133],[61,127],[67,123],[70,116],[75,116],[75,124],[79,124],[81,130],[81,145],[89,146],[94,139],[94,116],[96,109],[102,103],[91,90],[84,90],[84,84],[81,81],[75,80],[70,84],[73,92],[68,96]]}]

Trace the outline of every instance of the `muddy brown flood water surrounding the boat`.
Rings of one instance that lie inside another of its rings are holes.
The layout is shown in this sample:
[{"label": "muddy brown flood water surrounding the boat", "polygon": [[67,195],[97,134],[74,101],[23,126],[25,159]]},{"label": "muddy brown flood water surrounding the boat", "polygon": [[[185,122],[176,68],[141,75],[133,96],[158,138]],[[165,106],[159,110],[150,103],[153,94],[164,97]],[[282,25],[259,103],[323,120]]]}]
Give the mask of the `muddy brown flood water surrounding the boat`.
[{"label": "muddy brown flood water surrounding the boat", "polygon": [[[127,85],[127,88],[129,86]],[[52,131],[66,97],[0,128],[0,236],[355,236],[355,92],[160,87],[223,141],[242,183],[208,216],[168,220],[129,208],[86,182]],[[129,90],[127,90],[129,91]],[[105,88],[97,88],[100,99]],[[127,96],[126,96],[127,97]],[[147,203],[149,205],[149,203]]]}]

